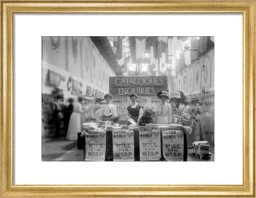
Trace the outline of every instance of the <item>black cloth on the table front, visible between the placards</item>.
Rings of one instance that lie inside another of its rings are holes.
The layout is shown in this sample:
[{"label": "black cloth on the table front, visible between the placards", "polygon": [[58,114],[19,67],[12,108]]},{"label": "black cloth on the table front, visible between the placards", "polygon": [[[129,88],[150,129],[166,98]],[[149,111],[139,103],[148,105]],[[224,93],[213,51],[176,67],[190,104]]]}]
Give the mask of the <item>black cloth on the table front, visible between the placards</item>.
[{"label": "black cloth on the table front, visible between the placards", "polygon": [[[188,154],[188,150],[187,150],[187,134],[185,129],[183,129],[183,127],[173,127],[173,129],[178,129],[181,130],[183,132],[183,161],[187,161],[187,154]],[[170,130],[170,129],[169,129]],[[134,138],[134,161],[140,161],[140,142],[139,142],[139,131],[138,130],[133,130],[133,138]],[[164,155],[163,155],[163,131],[160,130],[160,137],[161,137],[161,158],[159,161],[166,161],[164,159]],[[85,136],[82,137],[83,139],[83,149],[84,149],[84,159],[85,159],[85,155],[86,155],[86,151],[85,151]],[[107,130],[106,131],[106,154],[105,154],[105,161],[113,161],[113,131]]]}]

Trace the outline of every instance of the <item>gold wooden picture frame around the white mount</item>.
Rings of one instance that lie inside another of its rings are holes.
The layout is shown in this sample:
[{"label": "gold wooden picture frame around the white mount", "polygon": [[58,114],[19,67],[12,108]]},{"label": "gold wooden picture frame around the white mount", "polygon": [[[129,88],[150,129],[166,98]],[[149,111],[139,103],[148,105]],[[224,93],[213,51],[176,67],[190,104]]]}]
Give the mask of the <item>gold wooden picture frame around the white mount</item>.
[{"label": "gold wooden picture frame around the white mount", "polygon": [[[255,0],[253,1],[2,1],[1,197],[255,196]],[[14,185],[13,14],[14,13],[242,13],[243,184],[242,185]]]}]

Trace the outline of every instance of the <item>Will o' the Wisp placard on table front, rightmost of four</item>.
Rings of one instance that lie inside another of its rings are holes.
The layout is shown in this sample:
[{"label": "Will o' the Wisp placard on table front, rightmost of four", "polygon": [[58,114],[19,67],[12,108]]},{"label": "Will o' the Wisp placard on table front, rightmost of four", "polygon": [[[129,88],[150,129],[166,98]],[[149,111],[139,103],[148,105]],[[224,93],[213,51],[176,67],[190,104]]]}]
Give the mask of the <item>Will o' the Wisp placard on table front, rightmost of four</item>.
[{"label": "Will o' the Wisp placard on table front, rightmost of four", "polygon": [[162,133],[164,158],[167,161],[183,161],[183,132],[181,130],[166,130]]}]

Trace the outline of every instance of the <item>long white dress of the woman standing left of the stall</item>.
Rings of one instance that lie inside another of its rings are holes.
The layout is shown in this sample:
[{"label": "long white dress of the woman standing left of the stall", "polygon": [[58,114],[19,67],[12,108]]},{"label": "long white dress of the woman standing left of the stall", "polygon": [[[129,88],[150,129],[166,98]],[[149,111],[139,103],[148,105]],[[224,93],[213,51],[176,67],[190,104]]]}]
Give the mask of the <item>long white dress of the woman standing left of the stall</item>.
[{"label": "long white dress of the woman standing left of the stall", "polygon": [[80,103],[74,104],[74,111],[69,119],[68,133],[66,136],[66,139],[70,141],[77,140],[77,133],[81,132],[81,111],[82,105]]}]

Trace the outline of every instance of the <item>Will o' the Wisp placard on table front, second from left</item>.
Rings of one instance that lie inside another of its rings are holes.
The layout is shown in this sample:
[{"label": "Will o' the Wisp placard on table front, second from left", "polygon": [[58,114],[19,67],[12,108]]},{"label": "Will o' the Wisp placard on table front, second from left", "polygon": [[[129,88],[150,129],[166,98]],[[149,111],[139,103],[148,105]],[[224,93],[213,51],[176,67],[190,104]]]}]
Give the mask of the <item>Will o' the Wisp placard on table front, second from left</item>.
[{"label": "Will o' the Wisp placard on table front, second from left", "polygon": [[134,161],[134,139],[131,130],[113,130],[113,160]]}]

